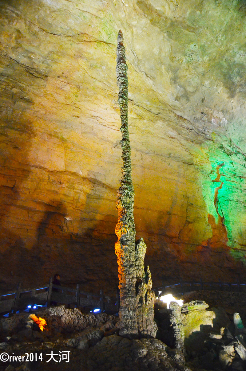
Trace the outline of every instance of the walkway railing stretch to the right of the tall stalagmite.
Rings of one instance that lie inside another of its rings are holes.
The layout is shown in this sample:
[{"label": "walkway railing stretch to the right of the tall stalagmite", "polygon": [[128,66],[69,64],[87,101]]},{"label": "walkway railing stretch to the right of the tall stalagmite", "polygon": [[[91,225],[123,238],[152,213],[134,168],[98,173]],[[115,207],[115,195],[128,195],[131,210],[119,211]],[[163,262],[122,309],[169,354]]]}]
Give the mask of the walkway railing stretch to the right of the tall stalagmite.
[{"label": "walkway railing stretch to the right of the tall stalagmite", "polygon": [[161,295],[166,293],[184,294],[185,292],[198,291],[198,290],[220,290],[231,292],[246,292],[245,283],[230,283],[230,282],[204,282],[202,279],[199,281],[183,281],[180,279],[179,283],[175,285],[161,286],[155,289],[156,295],[161,292]]}]

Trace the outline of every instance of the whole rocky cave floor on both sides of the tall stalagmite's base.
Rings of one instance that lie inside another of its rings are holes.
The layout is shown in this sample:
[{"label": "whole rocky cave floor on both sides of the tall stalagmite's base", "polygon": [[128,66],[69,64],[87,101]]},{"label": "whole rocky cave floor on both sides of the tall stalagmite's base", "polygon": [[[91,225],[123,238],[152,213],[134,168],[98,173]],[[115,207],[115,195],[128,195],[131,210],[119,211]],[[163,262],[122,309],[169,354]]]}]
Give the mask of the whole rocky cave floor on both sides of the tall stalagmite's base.
[{"label": "whole rocky cave floor on both sides of the tall stalagmite's base", "polygon": [[[0,371],[245,371],[244,339],[238,341],[235,337],[233,313],[238,312],[246,324],[246,295],[199,291],[188,293],[183,299],[189,303],[184,310],[181,307],[185,365],[177,361],[179,350],[174,347],[170,309],[157,300],[156,339],[123,338],[118,335],[116,315],[82,313],[65,306],[35,311],[47,322],[43,332],[30,320],[30,313],[2,317]],[[13,358],[19,355],[21,359]]]}]

